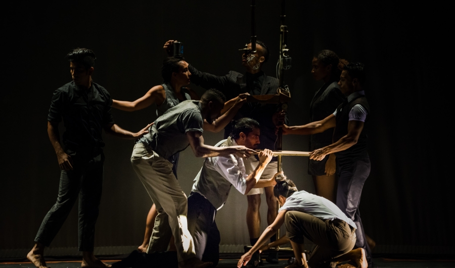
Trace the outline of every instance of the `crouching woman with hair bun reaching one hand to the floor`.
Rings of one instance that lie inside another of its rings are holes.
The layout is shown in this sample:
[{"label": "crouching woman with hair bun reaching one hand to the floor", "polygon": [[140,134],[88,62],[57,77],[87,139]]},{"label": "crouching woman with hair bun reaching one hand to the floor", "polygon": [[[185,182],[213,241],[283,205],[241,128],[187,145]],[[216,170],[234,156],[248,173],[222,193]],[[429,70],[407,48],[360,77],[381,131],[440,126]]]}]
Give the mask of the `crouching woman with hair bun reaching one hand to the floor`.
[{"label": "crouching woman with hair bun reaching one hand to the floor", "polygon": [[[294,263],[288,267],[335,267],[343,261],[353,261],[359,268],[367,267],[365,250],[352,250],[356,225],[349,217],[324,197],[299,192],[294,183],[283,174],[278,174],[276,181],[274,194],[282,206],[278,216],[250,251],[242,255],[237,267],[246,265],[253,252],[277,233],[283,223],[295,255]],[[304,253],[304,237],[316,244],[308,263]]]}]

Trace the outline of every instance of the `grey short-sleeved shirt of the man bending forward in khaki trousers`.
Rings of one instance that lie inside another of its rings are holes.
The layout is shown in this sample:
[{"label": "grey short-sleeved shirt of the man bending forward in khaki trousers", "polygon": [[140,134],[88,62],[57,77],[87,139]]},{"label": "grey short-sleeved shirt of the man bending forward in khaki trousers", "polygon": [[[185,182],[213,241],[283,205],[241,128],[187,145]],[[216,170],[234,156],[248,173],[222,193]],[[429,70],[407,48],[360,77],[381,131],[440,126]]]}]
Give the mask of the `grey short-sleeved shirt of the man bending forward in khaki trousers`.
[{"label": "grey short-sleeved shirt of the man bending forward in khaki trousers", "polygon": [[[184,101],[167,110],[149,127],[149,133],[136,143],[145,143],[161,157],[169,159],[175,153],[185,150],[190,145],[185,129],[178,121],[178,116],[186,110],[194,109],[201,113],[199,101]],[[202,115],[193,120],[200,120],[202,131]]]}]

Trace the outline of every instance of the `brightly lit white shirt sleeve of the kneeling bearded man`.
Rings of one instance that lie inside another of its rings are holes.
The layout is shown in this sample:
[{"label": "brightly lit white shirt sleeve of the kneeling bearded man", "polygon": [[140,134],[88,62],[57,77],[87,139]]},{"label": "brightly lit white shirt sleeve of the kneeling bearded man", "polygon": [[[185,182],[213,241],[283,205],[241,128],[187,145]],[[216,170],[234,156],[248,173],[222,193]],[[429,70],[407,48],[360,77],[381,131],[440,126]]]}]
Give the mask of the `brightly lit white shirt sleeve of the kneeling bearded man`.
[{"label": "brightly lit white shirt sleeve of the kneeling bearded man", "polygon": [[[218,171],[226,180],[228,180],[243,195],[246,191],[246,178],[248,174],[245,167],[239,165],[234,155],[211,157],[215,170]],[[242,168],[243,167],[243,168]]]}]

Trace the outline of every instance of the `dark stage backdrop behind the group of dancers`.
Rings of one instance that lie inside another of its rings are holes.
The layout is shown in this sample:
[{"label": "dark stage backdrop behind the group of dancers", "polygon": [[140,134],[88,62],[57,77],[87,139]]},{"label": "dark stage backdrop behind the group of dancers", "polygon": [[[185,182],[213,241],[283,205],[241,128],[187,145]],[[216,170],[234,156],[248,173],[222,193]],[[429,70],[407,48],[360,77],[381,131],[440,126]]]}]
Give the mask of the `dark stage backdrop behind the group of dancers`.
[{"label": "dark stage backdrop behind the group of dancers", "polygon": [[[280,4],[257,2],[257,36],[271,52],[264,71],[275,76]],[[94,81],[119,100],[139,98],[161,83],[162,46],[168,39],[183,41],[187,61],[201,71],[243,72],[238,49],[250,37],[249,3],[4,5],[0,250],[31,248],[42,218],[56,200],[59,167],[46,121],[53,92],[71,81],[64,58],[71,49],[95,51]],[[291,125],[308,122],[309,103],[322,85],[310,75],[316,52],[330,49],[340,58],[367,65],[372,171],[360,210],[367,234],[384,252],[454,253],[453,134],[445,112],[451,108],[451,87],[446,83],[450,76],[441,74],[451,54],[441,37],[447,27],[439,19],[444,9],[448,7],[423,2],[287,1],[293,66],[285,80],[292,94]],[[202,88],[193,88],[203,93]],[[120,126],[137,131],[156,118],[154,109],[112,113]],[[204,133],[204,138],[214,145],[221,134]],[[129,164],[133,143],[108,136],[105,141],[96,246],[139,245],[151,201]],[[284,150],[307,149],[306,137],[284,138]],[[188,194],[202,159],[187,150],[180,161],[179,182]],[[304,158],[284,158],[285,171],[298,188],[314,192],[306,165]],[[246,198],[239,204],[245,209]],[[226,211],[235,214],[235,206]],[[239,214],[243,226],[237,228],[244,230],[245,213]],[[77,246],[76,222],[73,209],[53,247]],[[230,222],[218,226],[223,224]]]}]

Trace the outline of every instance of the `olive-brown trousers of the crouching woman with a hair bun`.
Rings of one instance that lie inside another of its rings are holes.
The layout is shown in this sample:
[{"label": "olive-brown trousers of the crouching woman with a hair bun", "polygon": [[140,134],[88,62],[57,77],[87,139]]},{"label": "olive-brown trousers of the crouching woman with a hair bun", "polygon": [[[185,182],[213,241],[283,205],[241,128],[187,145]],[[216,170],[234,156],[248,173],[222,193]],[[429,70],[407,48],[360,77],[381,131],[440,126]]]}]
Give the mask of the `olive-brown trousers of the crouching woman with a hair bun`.
[{"label": "olive-brown trousers of the crouching woman with a hair bun", "polygon": [[316,244],[308,259],[312,268],[335,267],[331,260],[351,251],[355,245],[355,228],[341,219],[322,220],[300,211],[288,211],[285,225],[286,237],[291,241],[303,244],[306,237]]}]

